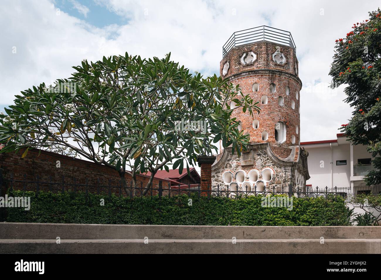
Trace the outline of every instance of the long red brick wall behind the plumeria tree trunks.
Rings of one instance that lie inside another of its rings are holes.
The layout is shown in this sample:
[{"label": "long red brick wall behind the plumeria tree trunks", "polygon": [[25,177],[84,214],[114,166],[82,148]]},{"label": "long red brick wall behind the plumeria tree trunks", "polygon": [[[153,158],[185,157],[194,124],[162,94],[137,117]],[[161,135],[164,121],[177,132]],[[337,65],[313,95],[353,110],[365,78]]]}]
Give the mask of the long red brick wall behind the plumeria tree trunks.
[{"label": "long red brick wall behind the plumeria tree trunks", "polygon": [[[38,156],[38,149],[29,150],[25,158],[21,158],[22,150],[18,154],[4,153],[0,154],[0,168],[3,170],[3,178],[10,179],[13,173],[14,180],[35,181],[37,176],[40,182],[52,182],[65,184],[85,184],[88,180],[89,188],[91,192],[97,192],[98,186],[113,186],[112,192],[119,194],[117,186],[120,186],[119,173],[107,166],[99,166],[96,163],[81,160],[78,158],[67,157],[64,155],[55,154],[52,152],[41,151]],[[60,163],[60,167],[57,167],[57,161]],[[25,175],[25,177],[24,177]],[[128,185],[131,182],[131,176],[125,175]],[[144,187],[148,182],[149,177],[145,175],[139,175],[137,178],[138,186]],[[168,181],[163,181],[163,188],[168,189]],[[158,187],[158,179],[154,179],[153,187]],[[22,189],[23,182],[15,183],[15,189]],[[62,184],[51,184],[54,189],[61,189]],[[8,186],[9,187],[9,186]],[[40,184],[40,189],[48,189],[49,184]],[[65,187],[65,190],[68,186]],[[70,188],[70,187],[69,187]],[[85,190],[85,186],[77,187],[77,190]],[[35,190],[35,183],[27,183],[27,190]],[[107,187],[101,188],[100,191],[108,191]],[[155,192],[156,193],[156,192]],[[154,194],[155,194],[154,193]],[[122,190],[122,194],[125,195],[125,191]],[[163,192],[165,194],[165,192]]]}]

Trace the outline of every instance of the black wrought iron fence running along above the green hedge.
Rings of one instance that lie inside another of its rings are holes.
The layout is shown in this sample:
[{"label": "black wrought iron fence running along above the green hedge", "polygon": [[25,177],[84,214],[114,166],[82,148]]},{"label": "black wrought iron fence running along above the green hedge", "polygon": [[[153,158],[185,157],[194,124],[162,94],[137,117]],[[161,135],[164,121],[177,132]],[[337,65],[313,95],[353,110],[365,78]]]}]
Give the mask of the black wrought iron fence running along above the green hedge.
[{"label": "black wrought iron fence running along above the green hedge", "polygon": [[[10,174],[9,178],[3,178],[1,170],[0,170],[0,196],[4,197],[6,191],[8,189],[18,189],[23,191],[32,190],[35,192],[35,195],[38,196],[40,191],[50,191],[50,192],[73,192],[76,193],[78,191],[85,192],[86,200],[88,197],[88,193],[95,194],[107,194],[109,198],[112,194],[117,196],[124,197],[153,197],[154,195],[158,195],[158,197],[166,196],[174,196],[174,195],[182,195],[186,194],[191,196],[191,194],[197,194],[200,196],[210,197],[230,197],[232,199],[237,199],[240,197],[247,197],[251,195],[287,195],[289,197],[325,197],[333,195],[334,197],[340,195],[342,196],[346,202],[351,202],[351,199],[354,198],[358,194],[380,194],[381,190],[379,187],[354,187],[357,191],[356,193],[351,193],[350,187],[335,187],[335,188],[312,188],[307,186],[304,190],[293,190],[292,185],[290,184],[288,187],[257,187],[253,188],[245,187],[245,189],[237,189],[237,190],[229,190],[229,188],[224,186],[217,185],[213,187],[213,189],[205,190],[202,189],[199,185],[188,185],[188,186],[171,186],[168,182],[167,184],[163,184],[163,181],[159,181],[155,186],[154,184],[150,184],[149,187],[139,181],[135,186],[133,186],[132,182],[129,182],[127,185],[122,184],[112,184],[111,181],[108,184],[102,184],[101,180],[98,179],[96,183],[89,183],[89,180],[86,179],[84,183],[77,182],[75,178],[70,177],[72,183],[66,182],[64,176],[62,176],[62,180],[60,182],[54,181],[53,178],[49,177],[48,180],[41,180],[39,176],[36,176],[34,179],[27,179],[26,174],[24,174],[23,179],[14,179],[13,174]],[[368,188],[368,189],[366,189]]]}]

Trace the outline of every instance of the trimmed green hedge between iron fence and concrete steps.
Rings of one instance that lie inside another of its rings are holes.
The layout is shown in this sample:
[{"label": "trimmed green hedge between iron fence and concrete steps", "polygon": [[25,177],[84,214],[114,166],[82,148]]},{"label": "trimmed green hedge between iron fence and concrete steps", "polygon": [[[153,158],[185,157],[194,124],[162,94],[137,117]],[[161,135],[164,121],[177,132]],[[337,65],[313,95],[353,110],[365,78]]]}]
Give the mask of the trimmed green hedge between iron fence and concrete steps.
[{"label": "trimmed green hedge between iron fence and concrete steps", "polygon": [[[293,198],[291,211],[284,207],[261,207],[261,196],[231,198],[187,195],[123,198],[112,195],[65,192],[23,192],[14,190],[13,197],[30,196],[29,211],[6,209],[8,222],[49,222],[81,224],[165,224],[217,226],[346,226],[344,200],[325,198]],[[100,205],[104,199],[104,206]],[[161,211],[159,211],[159,208]]]}]

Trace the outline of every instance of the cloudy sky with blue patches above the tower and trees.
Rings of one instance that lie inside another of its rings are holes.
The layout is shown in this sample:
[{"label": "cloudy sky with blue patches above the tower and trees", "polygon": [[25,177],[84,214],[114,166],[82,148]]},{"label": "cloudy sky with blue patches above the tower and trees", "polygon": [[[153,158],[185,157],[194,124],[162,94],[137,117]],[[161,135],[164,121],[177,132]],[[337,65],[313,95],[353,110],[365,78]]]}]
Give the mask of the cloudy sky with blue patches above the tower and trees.
[{"label": "cloudy sky with blue patches above the tower and trees", "polygon": [[0,111],[14,95],[68,78],[82,59],[138,54],[171,58],[204,77],[219,75],[234,31],[290,31],[299,61],[301,142],[336,139],[352,109],[344,85],[328,90],[335,39],[368,19],[378,1],[2,0]]}]

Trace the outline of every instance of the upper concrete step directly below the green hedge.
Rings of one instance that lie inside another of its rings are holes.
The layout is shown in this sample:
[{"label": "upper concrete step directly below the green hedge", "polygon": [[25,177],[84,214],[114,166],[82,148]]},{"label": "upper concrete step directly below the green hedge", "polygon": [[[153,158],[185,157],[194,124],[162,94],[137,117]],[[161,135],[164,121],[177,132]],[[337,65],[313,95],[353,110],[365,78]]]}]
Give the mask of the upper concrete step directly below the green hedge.
[{"label": "upper concrete step directly below the green hedge", "polygon": [[381,238],[377,226],[160,226],[0,223],[0,239],[327,239]]}]

